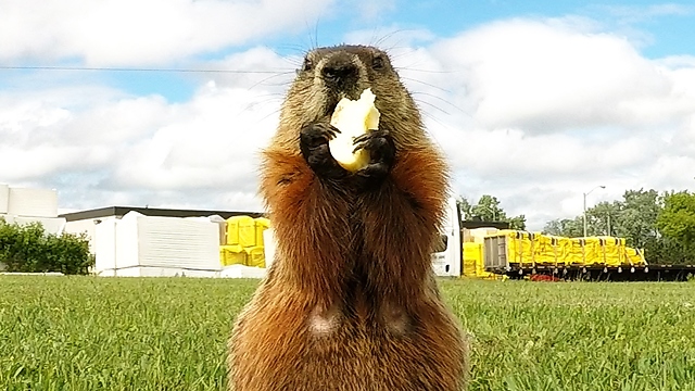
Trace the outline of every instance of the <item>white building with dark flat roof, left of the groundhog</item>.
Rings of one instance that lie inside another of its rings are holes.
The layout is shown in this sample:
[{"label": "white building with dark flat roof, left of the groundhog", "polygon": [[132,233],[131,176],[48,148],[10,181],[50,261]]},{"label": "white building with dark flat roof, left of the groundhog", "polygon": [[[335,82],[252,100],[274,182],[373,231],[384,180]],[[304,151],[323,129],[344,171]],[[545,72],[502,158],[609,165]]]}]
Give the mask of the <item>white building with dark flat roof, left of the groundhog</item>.
[{"label": "white building with dark flat roof, left of the groundhog", "polygon": [[66,213],[65,231],[86,234],[100,276],[216,277],[225,220],[261,213],[109,206]]}]

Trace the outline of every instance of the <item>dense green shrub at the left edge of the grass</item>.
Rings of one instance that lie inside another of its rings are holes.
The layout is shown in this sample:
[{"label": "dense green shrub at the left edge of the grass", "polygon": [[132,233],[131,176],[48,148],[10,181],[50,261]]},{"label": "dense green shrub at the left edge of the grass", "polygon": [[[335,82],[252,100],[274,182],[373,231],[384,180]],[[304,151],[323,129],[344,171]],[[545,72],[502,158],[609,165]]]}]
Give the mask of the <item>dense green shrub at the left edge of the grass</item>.
[{"label": "dense green shrub at the left edge of the grass", "polygon": [[9,224],[0,217],[0,263],[8,272],[86,275],[94,256],[85,234],[46,234],[40,223]]}]

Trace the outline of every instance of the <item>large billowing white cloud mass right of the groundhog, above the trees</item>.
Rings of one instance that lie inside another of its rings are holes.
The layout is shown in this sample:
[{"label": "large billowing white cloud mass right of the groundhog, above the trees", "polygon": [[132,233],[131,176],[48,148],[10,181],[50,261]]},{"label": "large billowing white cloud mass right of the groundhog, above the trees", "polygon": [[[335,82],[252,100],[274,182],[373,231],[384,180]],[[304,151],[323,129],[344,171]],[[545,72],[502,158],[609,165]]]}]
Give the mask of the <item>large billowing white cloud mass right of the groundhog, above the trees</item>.
[{"label": "large billowing white cloud mass right of the groundhog, above the trees", "polygon": [[[695,62],[648,60],[581,20],[511,20],[410,51],[405,81],[452,156],[456,187],[531,229],[627,189],[693,188]],[[691,168],[688,168],[691,167]],[[690,174],[688,174],[690,173]]]}]

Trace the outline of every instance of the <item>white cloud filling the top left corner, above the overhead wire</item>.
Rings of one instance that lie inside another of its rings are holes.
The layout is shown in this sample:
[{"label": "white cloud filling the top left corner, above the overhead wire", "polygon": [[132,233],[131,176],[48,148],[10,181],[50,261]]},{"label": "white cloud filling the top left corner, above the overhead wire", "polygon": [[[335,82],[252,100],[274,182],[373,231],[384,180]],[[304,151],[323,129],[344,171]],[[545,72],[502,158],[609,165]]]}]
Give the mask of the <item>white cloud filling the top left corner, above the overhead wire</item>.
[{"label": "white cloud filling the top left corner, above the overhead wire", "polygon": [[3,1],[0,60],[80,58],[89,65],[179,61],[306,28],[326,0]]}]

